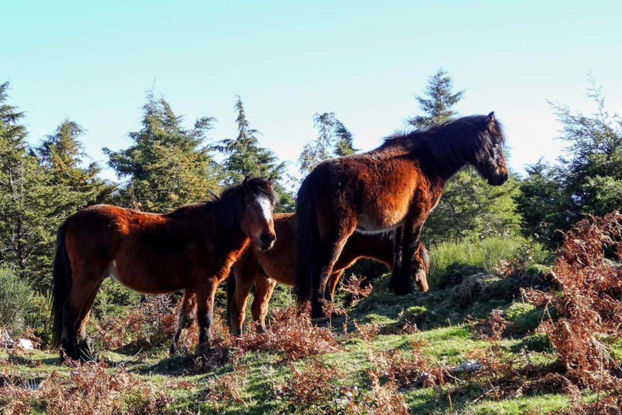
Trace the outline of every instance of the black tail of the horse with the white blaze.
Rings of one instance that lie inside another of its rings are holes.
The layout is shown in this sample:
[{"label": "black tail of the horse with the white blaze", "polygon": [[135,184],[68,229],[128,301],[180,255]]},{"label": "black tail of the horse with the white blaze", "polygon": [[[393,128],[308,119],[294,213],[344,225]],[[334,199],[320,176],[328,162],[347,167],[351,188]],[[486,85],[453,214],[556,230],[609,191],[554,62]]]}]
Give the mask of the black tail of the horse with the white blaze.
[{"label": "black tail of the horse with the white blaze", "polygon": [[65,232],[68,221],[58,228],[56,234],[56,257],[52,277],[52,321],[54,344],[60,345],[60,334],[63,330],[63,307],[72,290],[72,264],[65,246]]}]

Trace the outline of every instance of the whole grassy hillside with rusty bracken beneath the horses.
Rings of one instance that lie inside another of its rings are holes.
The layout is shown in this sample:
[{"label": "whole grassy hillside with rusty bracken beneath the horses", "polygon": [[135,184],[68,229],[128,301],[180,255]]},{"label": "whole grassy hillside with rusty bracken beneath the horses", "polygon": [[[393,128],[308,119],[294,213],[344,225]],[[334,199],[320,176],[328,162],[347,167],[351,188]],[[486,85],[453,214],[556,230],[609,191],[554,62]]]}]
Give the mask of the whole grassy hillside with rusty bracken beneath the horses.
[{"label": "whole grassy hillside with rusty bracken beneath the horses", "polygon": [[[567,281],[562,260],[570,264],[570,256],[536,265],[546,261],[537,247],[500,249],[500,242],[432,247],[428,293],[392,295],[384,275],[371,293],[342,291],[333,317],[320,325],[300,317],[281,290],[268,333],[249,327],[236,340],[216,318],[215,345],[203,358],[169,356],[174,309],[161,299],[144,302],[91,327],[98,363],[62,364],[55,351],[0,351],[0,406],[5,413],[224,414],[615,408],[620,338],[604,329],[598,335],[611,360],[601,355],[594,371],[573,361],[551,331],[557,322],[573,327],[572,311],[566,315],[556,302],[574,298],[567,282],[560,285]],[[598,266],[620,274],[616,262]],[[548,299],[538,302],[537,295]]]}]

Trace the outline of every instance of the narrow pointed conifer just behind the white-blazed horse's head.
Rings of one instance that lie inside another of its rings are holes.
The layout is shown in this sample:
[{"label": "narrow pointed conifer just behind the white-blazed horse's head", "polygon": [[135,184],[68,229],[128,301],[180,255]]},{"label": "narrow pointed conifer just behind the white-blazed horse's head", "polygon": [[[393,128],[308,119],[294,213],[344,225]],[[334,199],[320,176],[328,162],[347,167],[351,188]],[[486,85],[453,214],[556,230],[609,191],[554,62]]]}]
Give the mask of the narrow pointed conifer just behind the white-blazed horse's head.
[{"label": "narrow pointed conifer just behind the white-blazed horse's head", "polygon": [[238,97],[234,105],[238,114],[236,138],[221,140],[215,146],[216,150],[225,154],[223,161],[225,168],[225,184],[235,184],[243,181],[244,177],[264,177],[274,179],[274,189],[279,195],[279,203],[275,207],[277,212],[289,212],[294,209],[294,194],[287,191],[281,181],[285,171],[285,162],[279,162],[277,156],[269,149],[259,145],[258,130],[251,128],[246,118],[244,103]]}]

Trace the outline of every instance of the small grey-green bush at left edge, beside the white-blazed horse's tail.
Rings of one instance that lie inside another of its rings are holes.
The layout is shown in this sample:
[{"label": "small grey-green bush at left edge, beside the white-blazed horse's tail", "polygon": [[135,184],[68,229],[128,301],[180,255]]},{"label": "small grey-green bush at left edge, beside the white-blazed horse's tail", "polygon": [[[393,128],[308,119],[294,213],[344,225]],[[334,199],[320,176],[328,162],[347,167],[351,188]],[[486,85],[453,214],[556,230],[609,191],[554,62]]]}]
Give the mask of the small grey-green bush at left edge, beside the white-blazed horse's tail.
[{"label": "small grey-green bush at left edge, beside the white-blazed horse's tail", "polygon": [[37,296],[30,285],[10,268],[0,268],[0,328],[17,336],[30,326],[37,313]]}]

